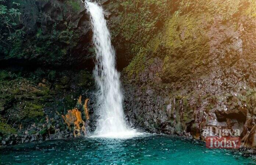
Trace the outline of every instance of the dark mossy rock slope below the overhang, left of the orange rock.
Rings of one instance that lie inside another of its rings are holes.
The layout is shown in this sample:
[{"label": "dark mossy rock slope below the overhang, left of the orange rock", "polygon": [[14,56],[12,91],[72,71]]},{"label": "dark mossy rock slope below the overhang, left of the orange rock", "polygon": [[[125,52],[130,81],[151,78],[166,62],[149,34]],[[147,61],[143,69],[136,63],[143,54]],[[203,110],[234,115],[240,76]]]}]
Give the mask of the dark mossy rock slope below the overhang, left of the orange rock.
[{"label": "dark mossy rock slope below the overhang, left of the orange rock", "polygon": [[[17,75],[14,72],[16,71],[13,69],[0,70],[0,114],[3,114],[3,117],[0,115],[0,139],[8,134],[19,133],[20,126],[29,128],[28,134],[40,133],[45,136],[47,133],[54,133],[54,122],[51,119],[56,118],[56,111],[65,114],[67,110],[74,108],[81,90],[87,89],[93,81],[91,73],[86,70],[56,73],[39,68],[35,71],[24,69],[18,71],[21,74],[16,72]],[[12,75],[17,77],[13,79]],[[76,89],[56,90],[54,85],[58,83],[65,86],[72,83]],[[49,117],[47,125],[45,116]],[[35,127],[31,129],[34,124]],[[65,125],[59,124],[61,129],[65,128]],[[41,131],[38,132],[37,128]]]}]

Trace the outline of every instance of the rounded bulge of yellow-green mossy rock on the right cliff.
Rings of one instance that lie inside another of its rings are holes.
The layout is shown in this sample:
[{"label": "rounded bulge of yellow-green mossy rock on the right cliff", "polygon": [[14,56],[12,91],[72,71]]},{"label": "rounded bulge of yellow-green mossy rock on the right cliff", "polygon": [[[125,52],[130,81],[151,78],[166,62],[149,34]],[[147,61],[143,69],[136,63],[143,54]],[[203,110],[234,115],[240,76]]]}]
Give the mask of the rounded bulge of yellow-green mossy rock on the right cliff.
[{"label": "rounded bulge of yellow-green mossy rock on the right cliff", "polygon": [[172,17],[163,40],[168,50],[163,65],[162,78],[165,80],[176,81],[202,67],[204,59],[207,59],[209,38],[203,25],[191,15]]}]

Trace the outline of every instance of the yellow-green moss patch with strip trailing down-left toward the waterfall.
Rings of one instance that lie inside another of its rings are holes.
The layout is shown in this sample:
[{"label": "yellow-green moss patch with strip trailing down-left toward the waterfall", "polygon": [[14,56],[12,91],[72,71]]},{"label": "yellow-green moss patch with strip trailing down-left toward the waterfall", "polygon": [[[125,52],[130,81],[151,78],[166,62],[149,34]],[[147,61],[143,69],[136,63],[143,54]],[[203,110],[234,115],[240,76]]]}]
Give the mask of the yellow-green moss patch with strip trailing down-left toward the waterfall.
[{"label": "yellow-green moss patch with strip trailing down-left toward the waterfall", "polygon": [[[192,15],[171,17],[166,22],[164,31],[147,46],[142,47],[124,71],[130,78],[132,75],[138,75],[153,63],[153,58],[149,58],[150,55],[163,58],[162,78],[166,81],[176,81],[190,74],[193,69],[203,66],[210,46],[202,19],[198,20],[198,17]],[[146,60],[147,58],[149,60]]]}]

